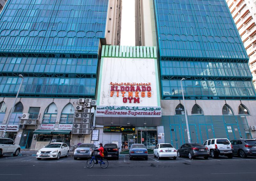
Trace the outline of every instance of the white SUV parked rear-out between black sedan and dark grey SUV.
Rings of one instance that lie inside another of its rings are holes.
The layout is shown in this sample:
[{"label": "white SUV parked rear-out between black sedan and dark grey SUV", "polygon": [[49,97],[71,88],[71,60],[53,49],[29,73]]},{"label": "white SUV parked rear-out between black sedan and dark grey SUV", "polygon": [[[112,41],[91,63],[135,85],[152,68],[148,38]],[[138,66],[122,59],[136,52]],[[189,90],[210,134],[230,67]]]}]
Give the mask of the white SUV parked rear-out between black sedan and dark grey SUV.
[{"label": "white SUV parked rear-out between black sedan and dark grey SUV", "polygon": [[208,147],[212,158],[218,158],[219,155],[233,158],[233,146],[227,138],[208,139],[204,142],[204,146]]}]

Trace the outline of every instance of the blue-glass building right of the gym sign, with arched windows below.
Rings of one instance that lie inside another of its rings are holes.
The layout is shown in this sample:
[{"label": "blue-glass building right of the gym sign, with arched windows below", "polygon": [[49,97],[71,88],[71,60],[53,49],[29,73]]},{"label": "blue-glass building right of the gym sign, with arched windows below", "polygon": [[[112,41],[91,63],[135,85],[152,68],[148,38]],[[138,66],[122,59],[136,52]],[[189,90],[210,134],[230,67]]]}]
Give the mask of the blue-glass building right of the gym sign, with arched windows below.
[{"label": "blue-glass building right of the gym sign, with arched windows below", "polygon": [[[135,32],[141,32],[136,42],[152,46],[157,41],[162,99],[158,136],[164,133],[164,141],[175,147],[188,141],[182,83],[192,142],[255,137],[250,131],[256,125],[256,96],[249,57],[225,0],[136,4],[143,13],[135,23]],[[147,25],[146,19],[151,20]],[[152,37],[144,41],[143,35]]]}]

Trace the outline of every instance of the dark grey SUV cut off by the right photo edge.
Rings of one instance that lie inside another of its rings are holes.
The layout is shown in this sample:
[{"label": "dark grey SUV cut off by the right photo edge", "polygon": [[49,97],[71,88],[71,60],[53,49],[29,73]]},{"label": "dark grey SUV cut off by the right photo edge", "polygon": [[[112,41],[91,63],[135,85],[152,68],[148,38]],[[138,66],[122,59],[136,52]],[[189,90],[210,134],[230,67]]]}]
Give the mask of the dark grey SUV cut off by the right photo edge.
[{"label": "dark grey SUV cut off by the right photo edge", "polygon": [[239,155],[241,158],[256,156],[255,139],[235,139],[230,142],[233,146],[233,153]]}]

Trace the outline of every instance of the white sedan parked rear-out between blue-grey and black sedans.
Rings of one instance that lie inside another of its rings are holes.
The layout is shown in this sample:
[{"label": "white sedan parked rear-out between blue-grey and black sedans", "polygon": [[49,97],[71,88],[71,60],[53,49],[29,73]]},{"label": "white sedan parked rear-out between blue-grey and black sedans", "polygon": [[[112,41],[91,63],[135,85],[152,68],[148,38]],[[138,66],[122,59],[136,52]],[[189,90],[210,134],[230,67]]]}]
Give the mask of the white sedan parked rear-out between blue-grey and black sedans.
[{"label": "white sedan parked rear-out between blue-grey and black sedans", "polygon": [[160,143],[154,148],[154,157],[157,157],[158,160],[163,157],[171,157],[173,160],[176,160],[177,152],[170,143]]}]

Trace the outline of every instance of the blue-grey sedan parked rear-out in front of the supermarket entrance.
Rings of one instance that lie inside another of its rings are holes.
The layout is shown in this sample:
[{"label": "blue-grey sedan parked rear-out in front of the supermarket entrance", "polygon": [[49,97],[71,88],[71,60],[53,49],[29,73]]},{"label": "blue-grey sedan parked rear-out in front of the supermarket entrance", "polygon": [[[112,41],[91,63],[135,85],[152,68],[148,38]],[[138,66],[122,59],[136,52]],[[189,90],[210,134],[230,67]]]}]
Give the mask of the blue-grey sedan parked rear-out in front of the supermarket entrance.
[{"label": "blue-grey sedan parked rear-out in front of the supermarket entrance", "polygon": [[148,150],[144,144],[132,144],[129,150],[129,159],[145,158],[148,160]]}]

